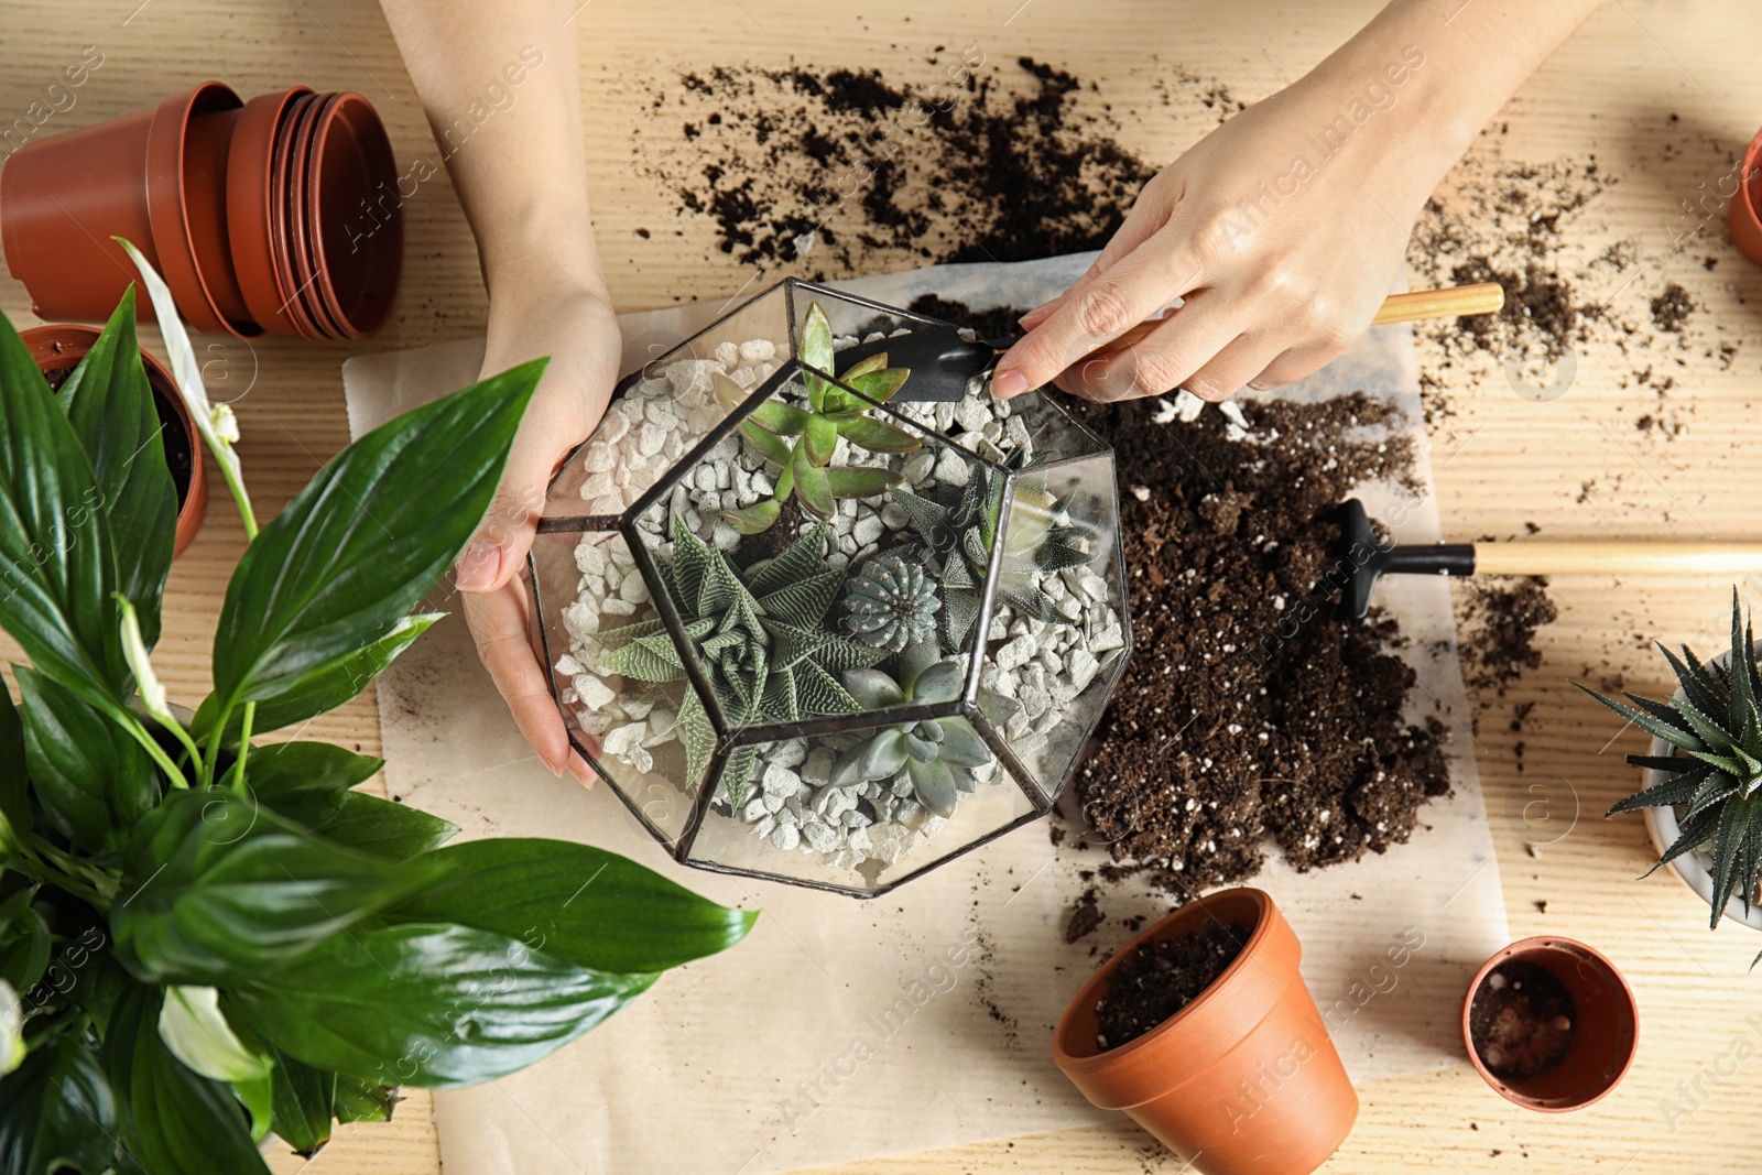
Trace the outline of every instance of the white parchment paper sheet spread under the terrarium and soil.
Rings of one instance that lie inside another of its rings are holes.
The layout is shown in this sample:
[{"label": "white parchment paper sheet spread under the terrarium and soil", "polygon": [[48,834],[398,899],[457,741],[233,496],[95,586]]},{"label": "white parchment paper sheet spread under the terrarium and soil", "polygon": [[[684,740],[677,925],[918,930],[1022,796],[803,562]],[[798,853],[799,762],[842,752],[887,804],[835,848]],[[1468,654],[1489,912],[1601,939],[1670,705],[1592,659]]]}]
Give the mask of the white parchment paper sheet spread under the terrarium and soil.
[{"label": "white parchment paper sheet spread under the terrarium and soil", "polygon": [[[1031,307],[1089,259],[936,266],[844,285],[893,305],[934,291],[974,308]],[[624,370],[724,310],[622,315]],[[462,340],[349,359],[351,432],[470,382],[481,356],[481,340]],[[1408,410],[1429,484],[1408,328],[1374,329],[1279,395],[1355,388]],[[1182,425],[1166,428],[1179,435]],[[1129,470],[1122,477],[1129,484]],[[1373,516],[1399,523],[1401,541],[1440,537],[1429,491],[1418,502],[1366,497]],[[1403,578],[1385,583],[1380,601],[1411,638],[1418,713],[1440,713],[1452,733],[1455,793],[1425,807],[1425,826],[1383,856],[1304,876],[1272,861],[1255,883],[1302,937],[1304,976],[1360,1082],[1461,1064],[1462,992],[1508,941],[1448,585]],[[1068,946],[1066,913],[1085,888],[1077,870],[1107,860],[1105,849],[1073,837],[1054,851],[1047,826],[1031,824],[872,902],[677,867],[604,784],[585,791],[532,757],[451,610],[379,680],[395,796],[451,819],[463,837],[597,844],[765,913],[738,948],[664,976],[550,1060],[439,1094],[448,1175],[759,1175],[1107,1117],[1054,1068],[1052,1025],[1129,937],[1121,918],[1154,916],[1166,900],[1105,893],[1108,920]],[[1396,967],[1388,950],[1399,946],[1415,950],[1397,951],[1406,962]]]}]

